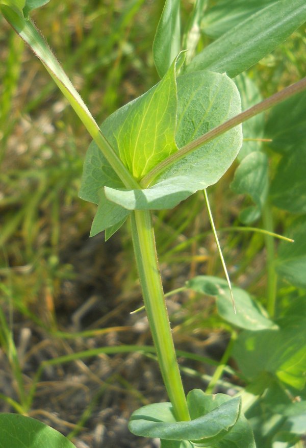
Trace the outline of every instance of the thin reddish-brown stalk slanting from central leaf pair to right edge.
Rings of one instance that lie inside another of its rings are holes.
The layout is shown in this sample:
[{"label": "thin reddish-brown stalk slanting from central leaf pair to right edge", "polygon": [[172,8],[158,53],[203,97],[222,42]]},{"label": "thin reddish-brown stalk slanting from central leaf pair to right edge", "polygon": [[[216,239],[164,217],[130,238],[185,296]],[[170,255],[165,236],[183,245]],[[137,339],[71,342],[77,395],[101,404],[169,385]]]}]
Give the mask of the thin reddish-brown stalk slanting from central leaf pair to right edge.
[{"label": "thin reddish-brown stalk slanting from central leaf pair to right edge", "polygon": [[171,156],[167,157],[158,165],[156,165],[154,168],[152,168],[151,171],[149,171],[147,175],[141,180],[140,182],[141,187],[147,188],[150,185],[150,183],[162,173],[162,171],[164,171],[173,163],[177,162],[178,160],[181,160],[183,157],[192,153],[194,150],[196,150],[203,144],[208,143],[211,140],[214,140],[216,137],[219,137],[219,135],[224,134],[230,129],[235,128],[235,126],[240,125],[240,123],[243,123],[249,118],[258,115],[267,109],[270,109],[270,107],[275,106],[278,103],[281,103],[290,96],[302,92],[305,89],[306,89],[306,78],[303,78],[297,83],[292,84],[291,86],[281,90],[280,92],[274,93],[274,95],[269,96],[269,98],[264,99],[255,106],[252,106],[249,109],[241,112],[240,114],[235,115],[235,117],[230,118],[229,120],[222,123],[222,125],[217,126],[216,128],[212,129],[206,134],[201,135],[199,138],[183,146],[179,151],[177,151],[174,154],[171,154]]}]

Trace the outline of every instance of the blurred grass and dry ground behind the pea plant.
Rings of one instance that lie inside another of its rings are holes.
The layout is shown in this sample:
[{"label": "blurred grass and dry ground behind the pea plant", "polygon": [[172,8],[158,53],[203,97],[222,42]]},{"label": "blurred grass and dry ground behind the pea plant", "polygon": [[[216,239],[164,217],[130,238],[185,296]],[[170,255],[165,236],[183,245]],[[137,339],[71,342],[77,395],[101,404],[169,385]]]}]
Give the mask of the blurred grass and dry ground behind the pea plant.
[{"label": "blurred grass and dry ground behind the pea plant", "polygon": [[[162,7],[162,1],[68,0],[35,11],[38,28],[98,122],[158,82],[151,42]],[[186,1],[183,15],[191,8]],[[130,354],[115,353],[123,344],[150,344],[142,312],[130,315],[141,296],[129,234],[123,227],[107,243],[101,234],[89,239],[95,207],[77,193],[90,138],[3,19],[0,43],[2,411],[27,404],[29,415],[69,434],[78,448],[155,446],[126,429],[134,409],[164,397],[154,356],[133,347]],[[303,27],[249,70],[263,96],[304,76],[305,43]],[[273,177],[280,156],[269,155]],[[266,305],[264,237],[235,230],[241,208],[250,204],[228,187],[235,168],[208,191],[215,224],[233,282]],[[272,215],[274,230],[286,234],[292,215],[279,209]],[[156,213],[155,225],[166,292],[195,275],[223,277],[201,194]],[[282,279],[278,284],[282,313],[304,292]],[[181,352],[186,388],[205,388],[230,327],[212,297],[177,292],[168,301],[176,347],[189,353]],[[108,354],[101,346],[115,349]],[[87,354],[73,359],[80,351]],[[215,390],[228,392],[230,379],[225,374]]]}]

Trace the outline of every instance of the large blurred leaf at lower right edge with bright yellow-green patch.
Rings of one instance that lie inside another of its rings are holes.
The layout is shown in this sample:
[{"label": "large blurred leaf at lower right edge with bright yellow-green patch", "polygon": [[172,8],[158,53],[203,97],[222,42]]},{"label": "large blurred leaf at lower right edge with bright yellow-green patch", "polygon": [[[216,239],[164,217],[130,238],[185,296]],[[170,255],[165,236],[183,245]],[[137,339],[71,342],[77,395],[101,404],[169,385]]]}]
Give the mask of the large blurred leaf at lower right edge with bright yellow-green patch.
[{"label": "large blurred leaf at lower right edge with bright yellow-green patch", "polygon": [[306,380],[305,316],[294,319],[287,316],[278,324],[281,327],[278,330],[240,333],[233,357],[249,381],[262,372],[269,372],[282,382],[302,389]]}]

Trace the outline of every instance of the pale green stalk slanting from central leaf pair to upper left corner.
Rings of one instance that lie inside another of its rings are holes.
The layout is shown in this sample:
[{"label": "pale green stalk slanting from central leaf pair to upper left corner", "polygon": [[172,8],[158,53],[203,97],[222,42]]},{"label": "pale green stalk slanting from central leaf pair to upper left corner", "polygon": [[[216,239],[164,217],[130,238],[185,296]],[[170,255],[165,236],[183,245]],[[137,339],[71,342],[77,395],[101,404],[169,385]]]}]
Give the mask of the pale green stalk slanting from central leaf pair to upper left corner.
[{"label": "pale green stalk slanting from central leaf pair to upper left corner", "polygon": [[63,95],[66,97],[74,111],[77,113],[83,125],[96,142],[97,146],[100,148],[101,152],[117,173],[125,187],[132,189],[139,188],[136,180],[114,152],[106,137],[101,133],[83,99],[77,90],[75,90],[60,63],[57,61],[51,49],[35,28],[32,21],[23,19],[15,13],[15,11],[5,5],[1,5],[0,10],[11,27],[21,37],[21,39],[29,45],[35,55],[43,63],[44,67],[57,84]]}]

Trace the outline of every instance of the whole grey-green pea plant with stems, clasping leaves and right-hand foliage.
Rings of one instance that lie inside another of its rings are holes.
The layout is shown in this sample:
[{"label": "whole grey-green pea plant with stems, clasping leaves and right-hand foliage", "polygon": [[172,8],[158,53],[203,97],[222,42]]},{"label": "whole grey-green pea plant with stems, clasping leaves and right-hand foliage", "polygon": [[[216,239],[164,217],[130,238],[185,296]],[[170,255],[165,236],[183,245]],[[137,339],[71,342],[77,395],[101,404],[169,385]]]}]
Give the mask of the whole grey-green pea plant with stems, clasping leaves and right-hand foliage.
[{"label": "whole grey-green pea plant with stems, clasping leaves and right-hand foliage", "polygon": [[[169,403],[136,410],[130,419],[131,432],[159,438],[162,448],[253,448],[256,442],[260,448],[303,446],[306,321],[305,296],[300,291],[306,287],[306,78],[262,100],[245,70],[306,21],[305,1],[220,0],[210,5],[196,0],[182,30],[180,1],[166,0],[153,42],[160,82],[100,127],[29,18],[33,9],[46,3],[0,0],[0,9],[93,139],[79,193],[83,200],[97,204],[91,236],[105,231],[108,239],[127,218],[131,222],[144,307],[169,397]],[[212,43],[198,52],[201,33]],[[262,112],[272,106],[265,121]],[[261,143],[263,137],[270,140],[265,146],[268,151]],[[280,156],[269,185],[271,151]],[[217,277],[198,276],[186,283],[186,288],[214,296],[219,315],[233,329],[223,366],[210,387],[206,392],[191,390],[186,396],[151,213],[171,209],[203,190],[215,232],[206,189],[236,158],[239,165],[231,188],[253,201],[241,211],[240,220],[249,225],[262,216],[266,228],[267,309],[243,289]],[[295,243],[281,242],[277,262],[271,205],[299,214],[289,230]],[[290,292],[291,303],[279,313],[276,273],[300,288]],[[212,394],[230,356],[246,387],[235,396]],[[74,446],[52,428],[20,414],[2,414],[0,434],[0,447],[17,447],[21,440],[27,448]]]}]

